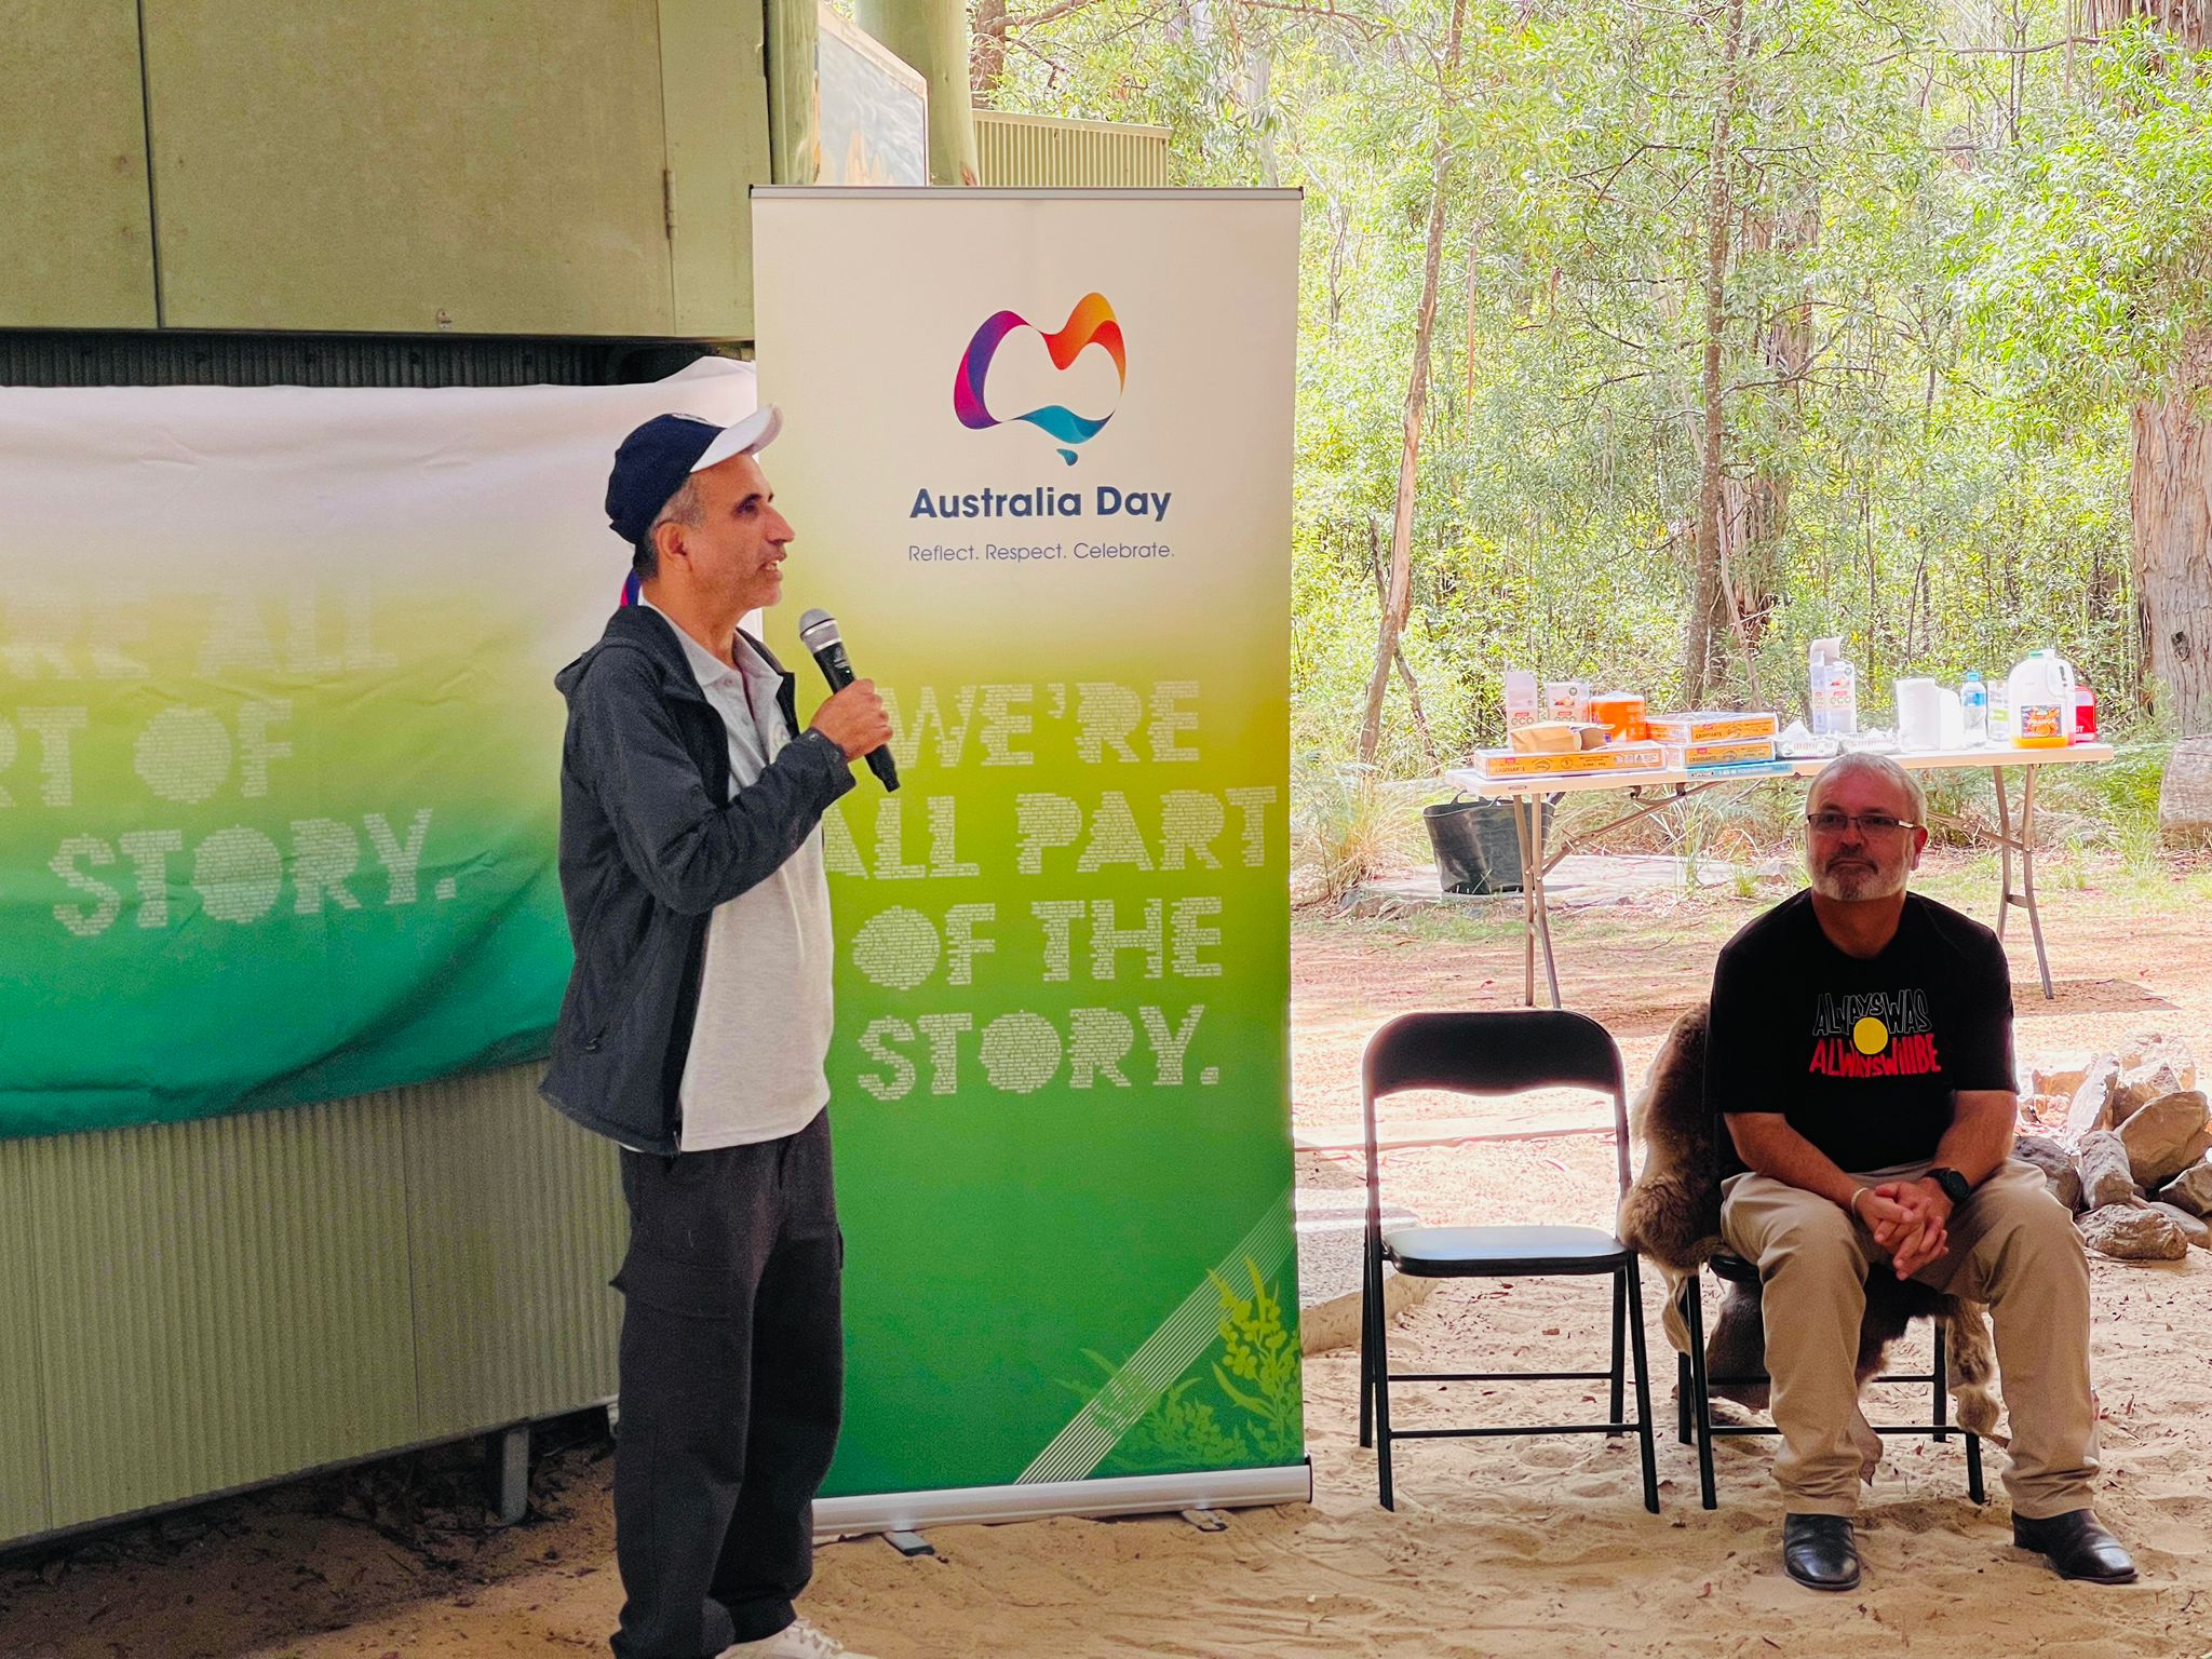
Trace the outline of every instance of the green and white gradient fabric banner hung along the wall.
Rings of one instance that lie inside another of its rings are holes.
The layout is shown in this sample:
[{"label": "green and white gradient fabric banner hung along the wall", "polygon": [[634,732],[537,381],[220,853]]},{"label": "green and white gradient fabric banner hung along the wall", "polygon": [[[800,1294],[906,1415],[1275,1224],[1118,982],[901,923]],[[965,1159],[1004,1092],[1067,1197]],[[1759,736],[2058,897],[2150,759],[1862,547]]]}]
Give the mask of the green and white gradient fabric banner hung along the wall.
[{"label": "green and white gradient fabric banner hung along the wall", "polygon": [[615,445],[752,372],[0,389],[0,1137],[544,1053]]}]

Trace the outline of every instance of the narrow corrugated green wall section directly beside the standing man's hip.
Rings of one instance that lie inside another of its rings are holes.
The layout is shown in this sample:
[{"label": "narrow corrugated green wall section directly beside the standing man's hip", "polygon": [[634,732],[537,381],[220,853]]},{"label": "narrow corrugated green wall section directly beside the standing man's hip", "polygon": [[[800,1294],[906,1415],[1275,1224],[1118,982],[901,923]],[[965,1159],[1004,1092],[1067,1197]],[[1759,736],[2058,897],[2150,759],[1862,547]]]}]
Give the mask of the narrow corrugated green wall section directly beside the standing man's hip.
[{"label": "narrow corrugated green wall section directly beside the standing man's hip", "polygon": [[420,1438],[615,1394],[617,1152],[538,1097],[542,1064],[400,1091]]}]

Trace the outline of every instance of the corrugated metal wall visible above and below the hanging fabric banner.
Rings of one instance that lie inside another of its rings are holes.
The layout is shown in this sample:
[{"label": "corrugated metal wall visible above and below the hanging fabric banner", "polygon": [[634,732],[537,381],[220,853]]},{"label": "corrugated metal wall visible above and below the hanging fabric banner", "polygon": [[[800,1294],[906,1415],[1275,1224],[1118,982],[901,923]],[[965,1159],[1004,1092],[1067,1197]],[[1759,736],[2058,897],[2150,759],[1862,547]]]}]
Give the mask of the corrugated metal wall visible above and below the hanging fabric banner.
[{"label": "corrugated metal wall visible above and below the hanging fabric banner", "polygon": [[[0,385],[599,385],[699,347],[0,332]],[[0,1141],[0,1542],[615,1394],[615,1148],[513,1066]]]}]

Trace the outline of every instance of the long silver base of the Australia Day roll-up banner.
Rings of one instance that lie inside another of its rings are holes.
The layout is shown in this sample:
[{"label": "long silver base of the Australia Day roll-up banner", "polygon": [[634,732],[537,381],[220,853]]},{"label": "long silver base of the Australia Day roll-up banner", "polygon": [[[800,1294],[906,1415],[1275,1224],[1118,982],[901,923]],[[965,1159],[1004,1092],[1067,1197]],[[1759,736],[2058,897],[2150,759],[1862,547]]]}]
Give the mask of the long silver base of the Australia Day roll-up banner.
[{"label": "long silver base of the Australia Day roll-up banner", "polygon": [[1214,1469],[1192,1475],[1115,1475],[1108,1480],[1040,1480],[1009,1486],[860,1493],[814,1502],[814,1542],[865,1533],[918,1533],[964,1522],[1048,1520],[1053,1515],[1155,1515],[1183,1509],[1256,1509],[1310,1504],[1312,1462],[1272,1469]]}]

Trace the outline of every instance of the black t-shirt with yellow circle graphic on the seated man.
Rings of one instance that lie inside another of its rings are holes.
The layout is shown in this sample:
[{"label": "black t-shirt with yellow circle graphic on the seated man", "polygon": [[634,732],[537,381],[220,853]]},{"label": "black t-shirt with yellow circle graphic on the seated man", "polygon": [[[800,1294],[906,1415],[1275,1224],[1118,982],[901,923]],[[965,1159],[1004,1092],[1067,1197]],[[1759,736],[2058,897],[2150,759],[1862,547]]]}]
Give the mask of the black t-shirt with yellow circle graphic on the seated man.
[{"label": "black t-shirt with yellow circle graphic on the seated man", "polygon": [[[1838,951],[1812,894],[1785,898],[1712,971],[1705,1106],[1781,1113],[1843,1170],[1936,1157],[1958,1088],[2017,1088],[1997,936],[1918,894],[1880,956]],[[1736,1172],[1721,1135],[1723,1172]]]}]

